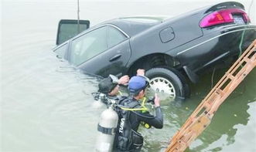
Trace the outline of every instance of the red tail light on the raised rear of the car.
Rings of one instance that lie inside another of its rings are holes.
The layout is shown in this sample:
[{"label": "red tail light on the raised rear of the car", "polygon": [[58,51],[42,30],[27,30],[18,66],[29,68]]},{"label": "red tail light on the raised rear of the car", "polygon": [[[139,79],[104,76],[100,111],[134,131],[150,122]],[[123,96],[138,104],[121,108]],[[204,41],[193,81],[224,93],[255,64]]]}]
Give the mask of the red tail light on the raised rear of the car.
[{"label": "red tail light on the raised rear of the car", "polygon": [[200,22],[200,27],[207,28],[213,25],[235,22],[234,15],[241,16],[241,19],[244,23],[250,22],[250,19],[246,12],[238,8],[230,8],[212,12],[209,15],[205,16]]}]

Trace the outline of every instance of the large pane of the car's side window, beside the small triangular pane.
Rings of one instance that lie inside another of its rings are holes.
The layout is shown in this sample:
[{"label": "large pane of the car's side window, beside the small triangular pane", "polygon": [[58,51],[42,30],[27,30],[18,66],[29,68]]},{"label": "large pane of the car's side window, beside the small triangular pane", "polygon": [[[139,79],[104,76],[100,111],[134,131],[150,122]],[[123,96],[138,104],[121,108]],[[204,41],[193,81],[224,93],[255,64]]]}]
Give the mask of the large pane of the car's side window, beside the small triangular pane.
[{"label": "large pane of the car's side window, beside the small triangular pane", "polygon": [[71,46],[70,62],[78,66],[104,52],[108,49],[107,35],[108,26],[104,26],[74,39]]}]

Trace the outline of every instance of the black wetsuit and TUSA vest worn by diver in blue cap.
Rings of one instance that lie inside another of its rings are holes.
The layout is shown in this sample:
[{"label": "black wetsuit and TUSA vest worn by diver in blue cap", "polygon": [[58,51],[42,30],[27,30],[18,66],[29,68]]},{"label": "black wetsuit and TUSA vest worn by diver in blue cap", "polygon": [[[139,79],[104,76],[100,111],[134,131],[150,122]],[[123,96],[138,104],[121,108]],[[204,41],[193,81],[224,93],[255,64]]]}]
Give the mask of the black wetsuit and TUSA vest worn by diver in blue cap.
[{"label": "black wetsuit and TUSA vest worn by diver in blue cap", "polygon": [[[138,100],[126,98],[119,105],[129,109],[142,108]],[[163,117],[160,106],[155,109],[155,116],[142,110],[119,110],[118,130],[115,138],[114,151],[140,151],[143,145],[143,137],[137,132],[139,124],[144,122],[149,126],[161,129]],[[123,122],[121,120],[123,120]],[[123,123],[123,124],[121,124]]]}]

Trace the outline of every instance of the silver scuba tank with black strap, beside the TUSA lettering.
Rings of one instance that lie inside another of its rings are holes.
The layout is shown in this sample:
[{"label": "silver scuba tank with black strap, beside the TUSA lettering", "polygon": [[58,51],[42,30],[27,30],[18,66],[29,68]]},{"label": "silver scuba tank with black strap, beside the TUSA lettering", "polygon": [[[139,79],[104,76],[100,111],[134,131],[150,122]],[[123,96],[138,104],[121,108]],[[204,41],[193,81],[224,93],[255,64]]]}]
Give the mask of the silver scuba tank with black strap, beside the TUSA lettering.
[{"label": "silver scuba tank with black strap, beside the TUSA lettering", "polygon": [[112,151],[117,127],[118,113],[113,110],[113,106],[110,106],[101,113],[100,122],[97,125],[96,151]]}]

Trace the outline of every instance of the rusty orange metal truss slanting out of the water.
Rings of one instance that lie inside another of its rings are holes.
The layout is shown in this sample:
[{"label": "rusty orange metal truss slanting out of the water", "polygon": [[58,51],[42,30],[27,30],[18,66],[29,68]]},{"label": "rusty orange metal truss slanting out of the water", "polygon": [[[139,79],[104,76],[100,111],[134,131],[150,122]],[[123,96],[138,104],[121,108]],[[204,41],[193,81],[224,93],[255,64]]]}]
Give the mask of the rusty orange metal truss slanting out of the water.
[{"label": "rusty orange metal truss slanting out of the water", "polygon": [[213,90],[203,99],[196,110],[183,124],[183,127],[172,137],[166,151],[182,152],[193,142],[210,124],[214,113],[220,104],[227,99],[245,76],[256,66],[256,39],[234,62],[234,65],[225,73]]}]

